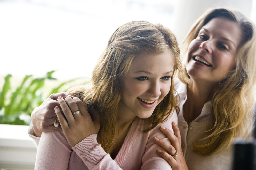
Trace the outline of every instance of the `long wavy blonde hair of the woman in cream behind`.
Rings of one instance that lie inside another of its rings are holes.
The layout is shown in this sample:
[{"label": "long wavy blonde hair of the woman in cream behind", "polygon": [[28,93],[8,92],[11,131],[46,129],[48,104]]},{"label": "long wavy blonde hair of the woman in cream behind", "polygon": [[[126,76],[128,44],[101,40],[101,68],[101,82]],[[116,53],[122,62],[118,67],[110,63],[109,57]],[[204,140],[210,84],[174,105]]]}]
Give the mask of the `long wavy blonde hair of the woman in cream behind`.
[{"label": "long wavy blonde hair of the woman in cream behind", "polygon": [[[231,70],[212,94],[214,120],[208,136],[194,143],[196,154],[208,156],[228,149],[234,138],[248,138],[253,127],[252,107],[256,83],[256,36],[254,24],[240,12],[225,8],[206,11],[191,27],[183,42],[182,54],[189,43],[198,36],[200,29],[212,18],[224,17],[242,28],[242,41],[237,49],[236,67]],[[179,75],[184,83],[190,78],[186,68]],[[207,141],[206,144],[202,144]]]}]

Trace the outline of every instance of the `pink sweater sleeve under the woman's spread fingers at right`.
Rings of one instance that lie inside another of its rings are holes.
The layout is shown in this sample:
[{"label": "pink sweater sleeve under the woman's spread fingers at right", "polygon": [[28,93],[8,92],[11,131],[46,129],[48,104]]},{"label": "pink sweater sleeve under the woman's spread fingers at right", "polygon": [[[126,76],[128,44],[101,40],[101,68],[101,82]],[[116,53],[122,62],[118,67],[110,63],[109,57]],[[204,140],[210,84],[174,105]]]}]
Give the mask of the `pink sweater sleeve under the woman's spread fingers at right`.
[{"label": "pink sweater sleeve under the woman's spread fingers at right", "polygon": [[160,131],[160,127],[164,126],[172,130],[173,121],[176,123],[178,122],[178,117],[175,111],[167,121],[158,124],[154,129],[150,131],[145,154],[142,157],[142,167],[141,167],[142,170],[172,169],[170,164],[166,160],[164,160],[164,158],[158,155],[157,149],[162,149],[162,148],[157,144],[155,144],[154,138],[157,137],[159,139],[164,139],[166,142],[170,143],[170,140]]}]

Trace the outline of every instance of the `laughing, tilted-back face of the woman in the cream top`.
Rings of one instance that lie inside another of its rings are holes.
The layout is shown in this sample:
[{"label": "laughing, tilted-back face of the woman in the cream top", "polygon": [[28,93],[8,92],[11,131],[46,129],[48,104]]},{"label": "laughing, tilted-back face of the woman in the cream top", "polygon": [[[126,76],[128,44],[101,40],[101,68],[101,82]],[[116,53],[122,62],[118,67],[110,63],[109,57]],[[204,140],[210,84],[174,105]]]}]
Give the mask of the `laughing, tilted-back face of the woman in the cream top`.
[{"label": "laughing, tilted-back face of the woman in the cream top", "polygon": [[242,29],[226,18],[213,18],[190,42],[186,69],[192,79],[218,83],[236,65]]}]

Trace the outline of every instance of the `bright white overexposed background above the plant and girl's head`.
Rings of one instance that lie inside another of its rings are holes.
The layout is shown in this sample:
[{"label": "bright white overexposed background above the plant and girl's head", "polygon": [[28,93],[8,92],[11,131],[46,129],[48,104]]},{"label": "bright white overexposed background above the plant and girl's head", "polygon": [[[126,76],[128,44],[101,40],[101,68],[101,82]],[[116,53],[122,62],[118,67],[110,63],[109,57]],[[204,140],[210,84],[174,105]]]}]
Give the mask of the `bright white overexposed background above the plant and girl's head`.
[{"label": "bright white overexposed background above the plant and girl's head", "polygon": [[[0,0],[0,76],[43,76],[57,70],[57,78],[90,77],[117,27],[147,20],[171,28],[173,2]],[[255,5],[256,0],[254,23]]]}]

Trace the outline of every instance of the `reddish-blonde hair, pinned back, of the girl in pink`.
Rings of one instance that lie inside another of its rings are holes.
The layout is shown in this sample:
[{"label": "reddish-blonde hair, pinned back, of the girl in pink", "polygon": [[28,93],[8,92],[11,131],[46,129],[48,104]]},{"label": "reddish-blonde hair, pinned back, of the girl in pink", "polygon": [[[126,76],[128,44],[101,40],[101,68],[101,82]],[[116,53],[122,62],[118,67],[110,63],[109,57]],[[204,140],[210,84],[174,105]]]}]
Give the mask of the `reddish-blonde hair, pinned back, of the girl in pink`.
[{"label": "reddish-blonde hair, pinned back, of the girl in pink", "polygon": [[[109,150],[116,133],[118,103],[121,99],[120,80],[128,73],[133,58],[142,53],[161,54],[167,50],[170,50],[174,57],[173,72],[181,70],[180,49],[176,37],[168,28],[146,21],[126,23],[110,37],[105,51],[93,70],[89,85],[70,91],[72,95],[79,96],[86,106],[94,107],[99,111],[101,128],[98,141],[105,151]],[[173,92],[173,78],[171,78],[170,91],[153,114],[146,119],[146,123],[152,126],[144,132],[163,122],[176,108]]]}]

